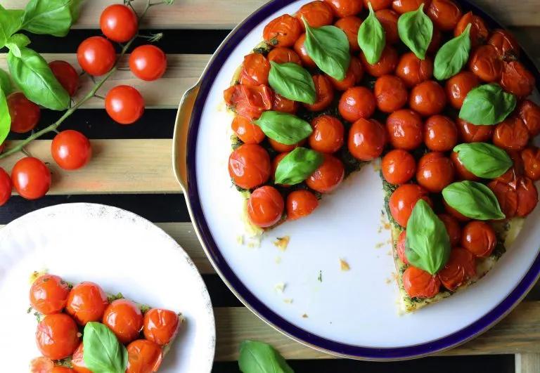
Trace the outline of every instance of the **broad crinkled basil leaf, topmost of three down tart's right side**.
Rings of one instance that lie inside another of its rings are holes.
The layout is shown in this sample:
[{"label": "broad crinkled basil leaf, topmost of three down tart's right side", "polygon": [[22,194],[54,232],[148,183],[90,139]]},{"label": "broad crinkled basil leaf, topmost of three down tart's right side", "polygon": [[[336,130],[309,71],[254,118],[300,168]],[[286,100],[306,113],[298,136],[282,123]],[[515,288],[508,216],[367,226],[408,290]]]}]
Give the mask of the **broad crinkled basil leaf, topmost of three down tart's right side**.
[{"label": "broad crinkled basil leaf, topmost of three down tart's right side", "polygon": [[515,96],[499,84],[484,84],[467,93],[459,117],[472,124],[497,124],[513,112],[516,102]]}]

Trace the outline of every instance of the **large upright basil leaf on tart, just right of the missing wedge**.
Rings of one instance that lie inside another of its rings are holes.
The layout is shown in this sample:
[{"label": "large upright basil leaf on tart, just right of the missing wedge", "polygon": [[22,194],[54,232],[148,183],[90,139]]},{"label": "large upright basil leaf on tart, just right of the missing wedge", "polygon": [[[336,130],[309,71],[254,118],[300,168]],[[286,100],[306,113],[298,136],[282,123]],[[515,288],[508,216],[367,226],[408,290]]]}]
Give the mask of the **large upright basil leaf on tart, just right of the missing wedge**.
[{"label": "large upright basil leaf on tart, just right of the missing wedge", "polygon": [[435,275],[448,261],[450,249],[450,238],[444,223],[428,202],[419,199],[407,223],[407,260],[411,265]]}]

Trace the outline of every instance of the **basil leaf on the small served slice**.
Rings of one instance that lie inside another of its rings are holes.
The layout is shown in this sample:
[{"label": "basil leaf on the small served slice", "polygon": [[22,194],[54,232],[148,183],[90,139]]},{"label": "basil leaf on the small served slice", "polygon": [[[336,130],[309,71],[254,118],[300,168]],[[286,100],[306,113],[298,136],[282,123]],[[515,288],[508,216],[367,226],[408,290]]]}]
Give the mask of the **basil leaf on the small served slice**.
[{"label": "basil leaf on the small served slice", "polygon": [[86,367],[94,373],[124,373],[127,349],[101,322],[88,322],[82,334]]}]

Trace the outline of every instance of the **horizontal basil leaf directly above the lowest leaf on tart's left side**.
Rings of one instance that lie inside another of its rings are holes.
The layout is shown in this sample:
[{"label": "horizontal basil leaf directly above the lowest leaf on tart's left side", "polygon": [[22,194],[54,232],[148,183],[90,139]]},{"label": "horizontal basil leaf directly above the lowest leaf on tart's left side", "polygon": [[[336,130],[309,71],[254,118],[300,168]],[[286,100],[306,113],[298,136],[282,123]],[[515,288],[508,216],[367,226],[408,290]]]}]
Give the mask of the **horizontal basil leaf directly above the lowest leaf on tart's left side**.
[{"label": "horizontal basil leaf directly above the lowest leaf on tart's left side", "polygon": [[285,112],[263,112],[253,123],[257,124],[266,136],[285,145],[294,145],[313,132],[311,124]]}]

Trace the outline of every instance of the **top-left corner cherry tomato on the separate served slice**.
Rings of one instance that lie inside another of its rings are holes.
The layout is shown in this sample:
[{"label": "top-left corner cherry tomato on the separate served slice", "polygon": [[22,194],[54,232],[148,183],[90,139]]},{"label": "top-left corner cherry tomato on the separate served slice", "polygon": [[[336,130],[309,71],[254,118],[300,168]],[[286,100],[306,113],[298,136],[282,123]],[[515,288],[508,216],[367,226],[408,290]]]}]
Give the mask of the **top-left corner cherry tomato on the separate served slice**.
[{"label": "top-left corner cherry tomato on the separate served slice", "polygon": [[30,287],[30,304],[44,315],[59,313],[68,303],[70,287],[56,275],[41,275]]}]

